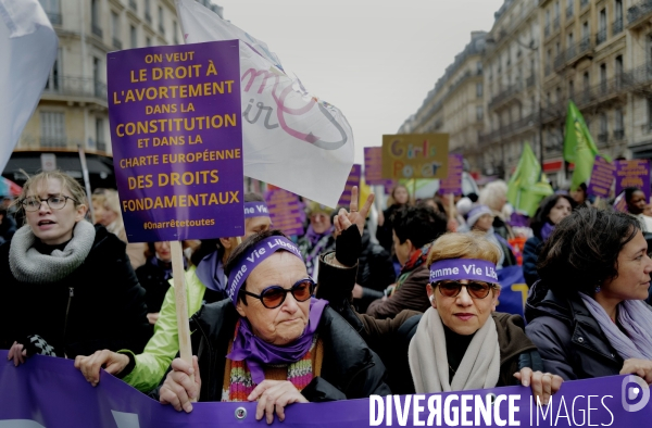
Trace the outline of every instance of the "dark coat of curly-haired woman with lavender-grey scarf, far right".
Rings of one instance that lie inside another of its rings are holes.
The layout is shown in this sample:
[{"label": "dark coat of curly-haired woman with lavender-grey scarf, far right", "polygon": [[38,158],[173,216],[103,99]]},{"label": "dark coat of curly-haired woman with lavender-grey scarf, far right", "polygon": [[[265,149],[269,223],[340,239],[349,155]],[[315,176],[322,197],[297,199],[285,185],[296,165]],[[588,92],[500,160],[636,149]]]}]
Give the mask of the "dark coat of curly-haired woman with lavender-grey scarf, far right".
[{"label": "dark coat of curly-haired woman with lavender-grey scarf, far right", "polygon": [[557,295],[539,281],[530,290],[525,318],[525,332],[539,349],[546,372],[575,380],[614,376],[623,368],[623,358],[579,295]]}]

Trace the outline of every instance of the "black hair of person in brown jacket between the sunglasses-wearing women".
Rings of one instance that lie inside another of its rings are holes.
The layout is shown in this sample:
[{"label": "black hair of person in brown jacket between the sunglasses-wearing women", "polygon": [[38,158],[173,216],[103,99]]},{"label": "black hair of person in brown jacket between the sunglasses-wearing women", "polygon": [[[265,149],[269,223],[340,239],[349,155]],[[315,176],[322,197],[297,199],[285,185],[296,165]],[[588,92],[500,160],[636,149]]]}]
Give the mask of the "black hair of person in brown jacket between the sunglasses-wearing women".
[{"label": "black hair of person in brown jacket between the sunglasses-wearing women", "polygon": [[403,206],[391,216],[394,234],[401,243],[408,239],[416,248],[422,248],[446,234],[448,219],[430,206]]}]

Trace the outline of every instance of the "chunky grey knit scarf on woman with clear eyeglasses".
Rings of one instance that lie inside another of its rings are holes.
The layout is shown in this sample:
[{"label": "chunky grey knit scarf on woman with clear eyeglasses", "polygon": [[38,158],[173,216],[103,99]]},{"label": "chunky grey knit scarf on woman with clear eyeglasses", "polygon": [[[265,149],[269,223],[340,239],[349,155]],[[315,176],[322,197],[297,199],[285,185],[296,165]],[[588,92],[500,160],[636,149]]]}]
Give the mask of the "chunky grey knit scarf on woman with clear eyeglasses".
[{"label": "chunky grey knit scarf on woman with clear eyeglasses", "polygon": [[95,241],[95,227],[85,219],[77,222],[73,239],[63,251],[54,250],[50,255],[36,251],[36,239],[28,225],[16,231],[9,248],[11,273],[21,282],[57,282],[84,263]]}]

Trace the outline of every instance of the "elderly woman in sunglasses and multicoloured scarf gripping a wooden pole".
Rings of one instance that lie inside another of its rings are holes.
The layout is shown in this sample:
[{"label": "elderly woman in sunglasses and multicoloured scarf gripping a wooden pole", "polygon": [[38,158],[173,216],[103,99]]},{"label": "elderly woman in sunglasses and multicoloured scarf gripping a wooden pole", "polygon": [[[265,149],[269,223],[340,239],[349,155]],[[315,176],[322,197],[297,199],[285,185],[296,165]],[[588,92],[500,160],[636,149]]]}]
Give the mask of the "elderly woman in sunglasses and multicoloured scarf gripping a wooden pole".
[{"label": "elderly woman in sunglasses and multicoloured scarf gripping a wooden pole", "polygon": [[380,358],[326,301],[311,298],[301,253],[280,231],[246,239],[225,273],[229,299],[192,316],[193,366],[173,361],[162,403],[190,412],[193,399],[258,401],[256,419],[271,424],[291,403],[390,393]]}]

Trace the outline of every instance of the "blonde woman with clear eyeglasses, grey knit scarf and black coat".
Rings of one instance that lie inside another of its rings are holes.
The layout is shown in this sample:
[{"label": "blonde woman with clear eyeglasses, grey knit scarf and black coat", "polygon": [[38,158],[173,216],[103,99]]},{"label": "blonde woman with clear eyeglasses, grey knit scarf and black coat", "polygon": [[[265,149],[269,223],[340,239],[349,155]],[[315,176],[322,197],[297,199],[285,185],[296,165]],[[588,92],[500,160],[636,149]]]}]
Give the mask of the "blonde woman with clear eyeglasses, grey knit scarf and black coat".
[{"label": "blonde woman with clear eyeglasses, grey knit scarf and black coat", "polygon": [[85,219],[82,186],[43,172],[25,182],[17,204],[26,225],[0,247],[0,348],[9,358],[142,350],[145,290],[125,243]]}]

